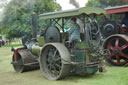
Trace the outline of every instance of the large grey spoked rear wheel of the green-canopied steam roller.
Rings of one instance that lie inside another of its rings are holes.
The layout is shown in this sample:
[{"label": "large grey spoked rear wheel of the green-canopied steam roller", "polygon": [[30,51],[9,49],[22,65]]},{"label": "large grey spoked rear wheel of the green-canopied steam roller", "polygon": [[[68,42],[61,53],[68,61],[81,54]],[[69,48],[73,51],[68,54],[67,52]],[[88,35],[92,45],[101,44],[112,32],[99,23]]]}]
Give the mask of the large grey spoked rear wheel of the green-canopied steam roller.
[{"label": "large grey spoked rear wheel of the green-canopied steam roller", "polygon": [[49,80],[58,80],[67,76],[70,72],[69,62],[69,52],[60,43],[47,44],[42,49],[40,68],[43,75]]}]

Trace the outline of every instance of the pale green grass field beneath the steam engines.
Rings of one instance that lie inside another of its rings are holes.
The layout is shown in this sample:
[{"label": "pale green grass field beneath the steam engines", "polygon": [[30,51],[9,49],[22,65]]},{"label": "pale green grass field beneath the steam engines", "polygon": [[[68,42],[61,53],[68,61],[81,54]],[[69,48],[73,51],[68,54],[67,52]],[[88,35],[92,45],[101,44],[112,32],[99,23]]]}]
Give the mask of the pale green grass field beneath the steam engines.
[{"label": "pale green grass field beneath the steam engines", "polygon": [[106,73],[68,76],[59,81],[45,79],[40,70],[16,73],[10,64],[10,49],[10,46],[0,48],[0,85],[128,85],[128,67],[107,66]]}]

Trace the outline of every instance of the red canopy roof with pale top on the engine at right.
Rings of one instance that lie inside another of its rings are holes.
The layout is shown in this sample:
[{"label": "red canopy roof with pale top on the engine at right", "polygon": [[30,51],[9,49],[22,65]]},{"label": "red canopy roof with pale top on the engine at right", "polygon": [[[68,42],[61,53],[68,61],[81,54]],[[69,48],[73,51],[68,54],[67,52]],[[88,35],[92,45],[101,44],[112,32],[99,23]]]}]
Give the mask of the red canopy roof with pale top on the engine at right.
[{"label": "red canopy roof with pale top on the engine at right", "polygon": [[106,10],[107,14],[125,13],[128,12],[128,5],[108,7]]}]

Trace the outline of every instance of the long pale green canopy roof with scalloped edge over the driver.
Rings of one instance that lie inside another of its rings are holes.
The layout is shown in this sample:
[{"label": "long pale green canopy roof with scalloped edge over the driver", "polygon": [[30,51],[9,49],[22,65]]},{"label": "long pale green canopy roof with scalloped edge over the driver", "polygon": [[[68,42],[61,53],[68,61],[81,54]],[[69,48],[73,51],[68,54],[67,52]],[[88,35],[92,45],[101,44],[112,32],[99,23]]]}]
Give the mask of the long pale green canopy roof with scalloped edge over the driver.
[{"label": "long pale green canopy roof with scalloped edge over the driver", "polygon": [[101,14],[106,14],[106,11],[104,9],[98,8],[98,7],[83,7],[83,8],[76,8],[76,9],[72,9],[72,10],[64,10],[64,11],[44,13],[44,14],[40,14],[39,16],[41,17],[41,19],[50,19],[50,18],[52,19],[52,18],[77,16],[80,14],[101,15]]}]

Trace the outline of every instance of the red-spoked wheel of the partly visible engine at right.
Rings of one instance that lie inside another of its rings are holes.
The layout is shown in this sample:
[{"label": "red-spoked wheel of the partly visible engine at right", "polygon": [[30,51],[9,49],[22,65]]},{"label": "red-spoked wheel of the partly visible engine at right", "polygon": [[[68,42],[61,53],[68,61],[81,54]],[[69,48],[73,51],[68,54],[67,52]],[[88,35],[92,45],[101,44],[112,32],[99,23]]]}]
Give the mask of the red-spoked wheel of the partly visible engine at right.
[{"label": "red-spoked wheel of the partly visible engine at right", "polygon": [[105,56],[108,63],[115,66],[128,63],[128,42],[125,38],[111,37],[106,43],[106,48],[110,51],[110,56]]}]

